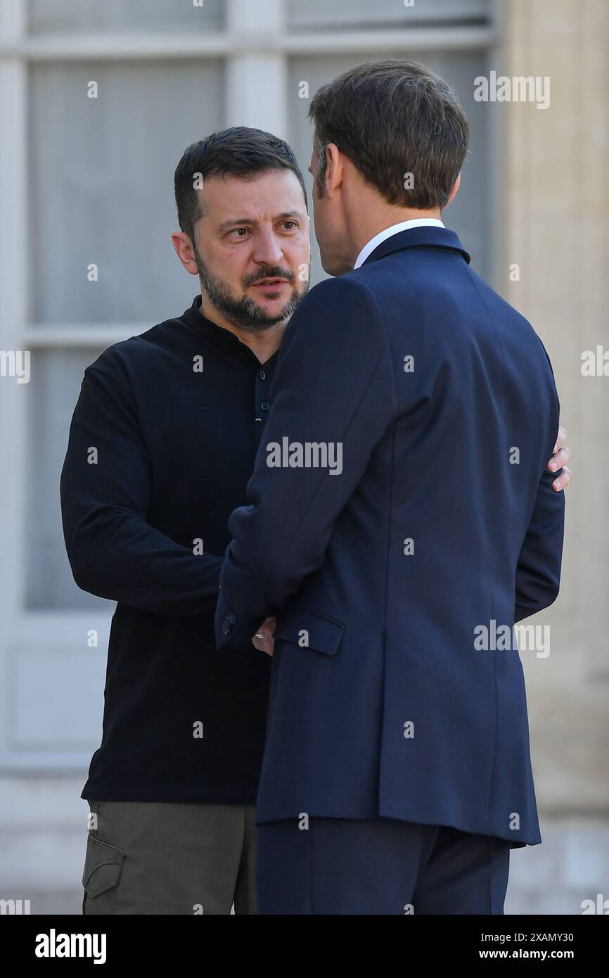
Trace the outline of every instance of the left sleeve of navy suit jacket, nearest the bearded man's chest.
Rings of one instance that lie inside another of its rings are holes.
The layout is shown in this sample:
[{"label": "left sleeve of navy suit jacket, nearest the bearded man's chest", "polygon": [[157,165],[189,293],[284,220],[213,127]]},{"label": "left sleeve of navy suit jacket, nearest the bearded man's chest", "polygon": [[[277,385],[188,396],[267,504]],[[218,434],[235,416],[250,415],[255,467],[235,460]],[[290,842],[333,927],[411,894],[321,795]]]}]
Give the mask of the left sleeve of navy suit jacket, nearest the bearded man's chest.
[{"label": "left sleeve of navy suit jacket, nearest the bearded man's chest", "polygon": [[[388,341],[367,286],[334,279],[309,292],[283,336],[272,395],[246,505],[229,520],[218,648],[251,639],[323,564],[336,518],[397,413]],[[298,446],[307,445],[327,451],[325,467],[304,455],[299,462]]]}]

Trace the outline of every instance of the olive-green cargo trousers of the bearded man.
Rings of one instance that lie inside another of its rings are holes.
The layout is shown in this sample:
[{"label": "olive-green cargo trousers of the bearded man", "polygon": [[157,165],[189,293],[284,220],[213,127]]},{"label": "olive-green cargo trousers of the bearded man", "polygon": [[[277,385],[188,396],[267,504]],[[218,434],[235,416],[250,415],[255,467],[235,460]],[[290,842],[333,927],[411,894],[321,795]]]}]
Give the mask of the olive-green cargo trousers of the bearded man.
[{"label": "olive-green cargo trousers of the bearded man", "polygon": [[256,912],[253,805],[89,807],[83,913]]}]

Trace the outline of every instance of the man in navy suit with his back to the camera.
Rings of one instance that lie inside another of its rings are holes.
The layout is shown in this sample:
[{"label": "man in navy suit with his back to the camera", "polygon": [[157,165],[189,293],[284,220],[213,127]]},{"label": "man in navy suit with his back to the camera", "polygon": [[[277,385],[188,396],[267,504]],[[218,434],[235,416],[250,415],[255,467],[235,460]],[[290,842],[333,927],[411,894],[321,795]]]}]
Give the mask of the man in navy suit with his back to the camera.
[{"label": "man in navy suit with his back to the camera", "polygon": [[215,619],[221,647],[277,615],[259,911],[502,913],[510,848],[541,842],[513,626],[558,593],[554,379],[441,221],[449,86],[362,66],[311,116],[337,278],[284,334]]}]

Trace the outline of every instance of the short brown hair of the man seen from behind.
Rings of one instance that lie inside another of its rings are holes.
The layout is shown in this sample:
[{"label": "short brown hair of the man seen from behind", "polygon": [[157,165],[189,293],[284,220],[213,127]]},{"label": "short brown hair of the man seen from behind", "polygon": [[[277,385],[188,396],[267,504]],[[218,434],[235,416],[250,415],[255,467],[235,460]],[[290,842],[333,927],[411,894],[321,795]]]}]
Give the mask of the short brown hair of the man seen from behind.
[{"label": "short brown hair of the man seen from behind", "polygon": [[[469,123],[451,87],[413,62],[371,62],[324,85],[309,117],[318,139],[317,190],[335,143],[389,203],[446,206],[467,153]],[[405,176],[413,174],[413,188]]]}]

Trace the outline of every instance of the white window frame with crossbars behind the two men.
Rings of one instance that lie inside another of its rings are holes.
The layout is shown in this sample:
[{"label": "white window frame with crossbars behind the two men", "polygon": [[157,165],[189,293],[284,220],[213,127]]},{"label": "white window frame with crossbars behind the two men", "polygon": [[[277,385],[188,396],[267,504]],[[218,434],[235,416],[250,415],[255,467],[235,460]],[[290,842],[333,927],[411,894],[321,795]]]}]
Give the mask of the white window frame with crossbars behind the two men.
[{"label": "white window frame with crossbars behind the two men", "polygon": [[[284,0],[227,0],[227,21],[222,32],[132,33],[28,35],[26,0],[0,0],[0,349],[99,349],[142,332],[152,323],[123,325],[86,324],[76,326],[36,326],[28,322],[27,290],[31,288],[28,269],[27,219],[27,112],[28,69],[31,65],[70,62],[91,58],[106,62],[153,62],[162,59],[221,58],[226,65],[226,125],[252,125],[287,135],[287,64],[295,55],[359,54],[386,51],[404,46],[409,52],[429,50],[497,50],[498,17],[492,8],[489,25],[476,24],[439,27],[350,29],[341,33],[327,30],[288,32]],[[258,98],[264,86],[264,104]],[[493,145],[496,146],[495,136]],[[494,149],[494,153],[496,153]],[[500,156],[500,153],[498,154]],[[498,158],[499,162],[499,158]],[[499,166],[495,179],[500,186]],[[497,195],[493,195],[497,198]],[[495,227],[500,227],[495,223]],[[135,329],[134,329],[135,328]],[[35,378],[31,382],[35,382]],[[5,718],[0,725],[0,770],[74,771],[85,768],[91,746],[61,746],[45,749],[44,743],[21,745],[12,741],[12,705],[18,689],[16,670],[20,656],[29,656],[28,668],[48,667],[49,656],[69,658],[84,654],[82,637],[95,628],[99,646],[97,656],[100,703],[106,668],[109,622],[112,606],[98,611],[34,611],[25,606],[24,525],[26,512],[25,472],[27,384],[13,378],[0,378],[0,710]],[[59,487],[58,487],[59,492]],[[74,645],[74,636],[79,645]],[[55,651],[54,651],[55,650]],[[39,658],[36,658],[39,656]],[[59,659],[54,660],[59,661]],[[33,663],[33,666],[32,666]],[[25,673],[27,675],[27,673]],[[35,708],[35,704],[30,704]]]}]

